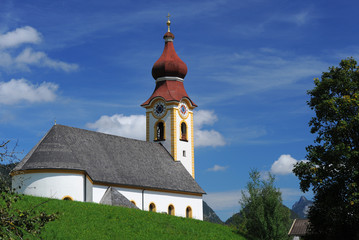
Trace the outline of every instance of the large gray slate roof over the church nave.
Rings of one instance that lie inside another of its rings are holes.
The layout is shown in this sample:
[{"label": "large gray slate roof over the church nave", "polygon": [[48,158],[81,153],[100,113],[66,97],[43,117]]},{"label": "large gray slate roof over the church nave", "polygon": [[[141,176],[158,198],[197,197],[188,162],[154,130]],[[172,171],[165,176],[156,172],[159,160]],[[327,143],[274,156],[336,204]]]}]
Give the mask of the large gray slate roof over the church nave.
[{"label": "large gray slate roof over the church nave", "polygon": [[205,194],[159,143],[54,125],[13,171],[86,171],[97,183]]}]

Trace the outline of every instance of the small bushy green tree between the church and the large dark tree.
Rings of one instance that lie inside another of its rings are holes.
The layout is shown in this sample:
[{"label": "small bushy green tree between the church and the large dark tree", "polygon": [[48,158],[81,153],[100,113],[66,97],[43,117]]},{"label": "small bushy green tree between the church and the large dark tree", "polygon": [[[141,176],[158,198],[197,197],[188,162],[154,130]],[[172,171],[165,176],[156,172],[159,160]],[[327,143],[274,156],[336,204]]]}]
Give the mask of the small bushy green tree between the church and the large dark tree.
[{"label": "small bushy green tree between the church and the large dark tree", "polygon": [[274,186],[275,177],[268,173],[268,178],[263,179],[257,170],[249,176],[248,192],[242,191],[240,200],[243,220],[239,229],[250,239],[288,239],[290,211],[283,206],[282,194]]}]

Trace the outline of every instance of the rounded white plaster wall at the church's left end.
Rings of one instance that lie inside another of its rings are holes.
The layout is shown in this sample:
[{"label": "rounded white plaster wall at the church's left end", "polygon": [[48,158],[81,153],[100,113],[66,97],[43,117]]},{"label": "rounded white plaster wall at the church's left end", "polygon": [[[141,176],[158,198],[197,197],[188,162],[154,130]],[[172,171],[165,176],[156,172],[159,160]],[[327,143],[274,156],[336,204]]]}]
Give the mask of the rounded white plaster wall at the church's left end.
[{"label": "rounded white plaster wall at the church's left end", "polygon": [[18,193],[62,199],[70,196],[84,201],[84,175],[73,173],[25,173],[12,177]]}]

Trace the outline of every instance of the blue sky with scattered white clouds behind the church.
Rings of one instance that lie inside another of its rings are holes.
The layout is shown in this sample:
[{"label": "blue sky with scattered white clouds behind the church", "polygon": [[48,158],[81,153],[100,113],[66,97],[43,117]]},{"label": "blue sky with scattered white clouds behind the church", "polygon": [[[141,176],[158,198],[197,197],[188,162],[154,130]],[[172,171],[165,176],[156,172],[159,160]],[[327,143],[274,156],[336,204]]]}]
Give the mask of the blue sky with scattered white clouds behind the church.
[{"label": "blue sky with scattered white clouds behind the church", "polygon": [[[313,142],[306,91],[341,59],[359,57],[356,1],[0,0],[0,137],[28,152],[57,123],[144,138],[171,14],[195,113],[196,180],[226,220],[256,168],[290,173]],[[131,129],[131,130],[129,130]],[[23,154],[20,154],[23,156]],[[311,194],[306,194],[311,198]]]}]

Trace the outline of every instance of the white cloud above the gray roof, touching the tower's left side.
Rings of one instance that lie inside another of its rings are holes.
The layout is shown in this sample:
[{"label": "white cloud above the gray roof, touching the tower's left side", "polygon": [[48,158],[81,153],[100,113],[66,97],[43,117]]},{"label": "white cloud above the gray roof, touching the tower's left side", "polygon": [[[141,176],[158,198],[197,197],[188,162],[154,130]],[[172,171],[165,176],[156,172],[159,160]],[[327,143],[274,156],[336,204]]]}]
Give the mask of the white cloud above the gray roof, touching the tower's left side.
[{"label": "white cloud above the gray roof, touching the tower's left side", "polygon": [[88,123],[86,126],[98,132],[139,140],[146,139],[146,116],[144,115],[104,115],[96,122]]}]

